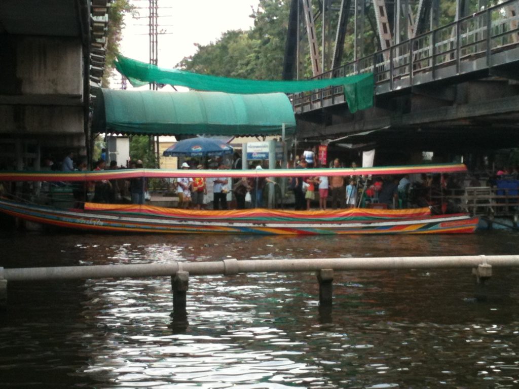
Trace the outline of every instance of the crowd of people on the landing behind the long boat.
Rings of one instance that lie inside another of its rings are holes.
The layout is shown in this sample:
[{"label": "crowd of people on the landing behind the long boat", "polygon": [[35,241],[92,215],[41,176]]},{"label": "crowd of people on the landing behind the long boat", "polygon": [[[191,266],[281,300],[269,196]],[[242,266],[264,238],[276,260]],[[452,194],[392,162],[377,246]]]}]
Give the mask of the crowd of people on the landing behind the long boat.
[{"label": "crowd of people on the landing behind the long boat", "polygon": [[[106,154],[104,154],[106,155]],[[103,157],[103,155],[102,155]],[[86,160],[74,163],[74,153],[70,152],[62,160],[59,167],[62,171],[87,170]],[[188,163],[189,162],[189,163]],[[295,170],[309,169],[316,165],[313,151],[306,150],[301,158],[296,157],[292,167]],[[174,178],[171,189],[176,193],[178,206],[183,209],[213,209],[227,210],[230,207],[245,209],[250,207],[265,207],[268,192],[274,191],[275,206],[283,206],[286,202],[281,198],[280,184],[284,182],[272,177],[241,177],[241,178],[204,178],[197,177],[195,171],[199,169],[235,169],[242,168],[239,154],[235,154],[232,161],[214,158],[210,165],[204,161],[190,160],[181,164],[182,170],[194,170],[193,177]],[[206,161],[207,163],[207,161]],[[44,169],[56,170],[56,164],[44,159]],[[356,164],[352,162],[354,168]],[[279,167],[279,166],[278,166]],[[338,158],[333,160],[330,169],[344,168]],[[103,158],[94,163],[95,171],[124,169],[126,166],[117,166],[111,161],[107,166]],[[141,160],[130,161],[129,169],[143,168]],[[263,169],[263,161],[256,161],[250,169]],[[514,172],[512,172],[513,174]],[[516,173],[516,172],[515,172]],[[287,191],[293,193],[295,210],[310,210],[318,207],[320,210],[345,209],[360,206],[375,207],[407,207],[426,206],[433,202],[434,197],[458,194],[467,183],[460,183],[455,176],[448,174],[422,174],[420,178],[410,178],[409,175],[363,177],[363,176],[295,176],[288,179]],[[500,168],[495,177],[509,175],[507,169]],[[478,177],[472,177],[470,186],[480,186]],[[82,207],[85,201],[101,203],[131,202],[145,203],[147,180],[144,178],[111,179],[99,182],[74,184],[74,198],[76,207]],[[290,196],[288,196],[290,198]],[[367,205],[366,205],[367,204]],[[375,205],[378,204],[378,205]]]}]

